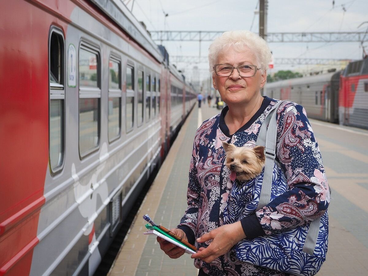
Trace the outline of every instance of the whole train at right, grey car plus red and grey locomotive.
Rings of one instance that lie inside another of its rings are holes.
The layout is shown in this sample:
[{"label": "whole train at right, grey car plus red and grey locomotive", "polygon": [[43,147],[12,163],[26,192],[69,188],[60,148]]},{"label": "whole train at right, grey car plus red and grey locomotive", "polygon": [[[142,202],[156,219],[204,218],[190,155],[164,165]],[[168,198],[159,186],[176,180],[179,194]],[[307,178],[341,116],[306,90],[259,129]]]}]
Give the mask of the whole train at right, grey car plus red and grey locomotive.
[{"label": "whole train at right, grey car plus red and grey locomotive", "polygon": [[343,71],[267,83],[265,91],[302,105],[310,118],[368,129],[368,58]]}]

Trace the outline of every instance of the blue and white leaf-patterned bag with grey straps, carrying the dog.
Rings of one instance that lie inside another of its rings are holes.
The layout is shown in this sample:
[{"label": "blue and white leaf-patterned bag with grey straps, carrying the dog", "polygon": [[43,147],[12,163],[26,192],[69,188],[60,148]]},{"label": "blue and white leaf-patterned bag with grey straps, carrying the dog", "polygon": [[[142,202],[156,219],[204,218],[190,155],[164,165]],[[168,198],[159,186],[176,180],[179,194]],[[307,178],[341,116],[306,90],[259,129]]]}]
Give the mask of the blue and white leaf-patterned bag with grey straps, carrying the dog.
[{"label": "blue and white leaf-patterned bag with grey straps, carrying the dog", "polygon": [[[277,129],[275,110],[281,103],[275,105],[265,118],[256,143],[265,146],[264,173],[254,180],[248,181],[246,187],[240,183],[233,184],[229,194],[229,199],[231,199],[225,212],[224,220],[226,223],[231,223],[231,218],[242,218],[242,197],[250,190],[253,190],[256,198],[259,198],[258,206],[254,206],[254,208],[260,210],[289,188],[284,172],[275,162]],[[268,129],[267,125],[269,125]],[[259,189],[261,192],[255,192]],[[267,208],[263,208],[263,212],[267,211]],[[315,275],[325,261],[327,244],[328,215],[325,212],[322,217],[295,229],[253,239],[245,238],[236,244],[235,251],[240,261],[291,275],[310,276]]]}]

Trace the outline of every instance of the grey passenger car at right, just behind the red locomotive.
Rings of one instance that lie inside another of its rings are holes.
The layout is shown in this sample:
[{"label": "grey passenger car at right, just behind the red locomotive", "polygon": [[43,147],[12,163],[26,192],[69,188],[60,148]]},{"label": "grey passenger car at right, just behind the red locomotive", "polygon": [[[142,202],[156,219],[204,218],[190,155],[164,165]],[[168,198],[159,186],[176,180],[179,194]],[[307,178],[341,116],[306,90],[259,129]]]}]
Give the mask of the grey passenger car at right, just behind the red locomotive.
[{"label": "grey passenger car at right, just behind the red locomotive", "polygon": [[337,123],[340,72],[266,84],[265,95],[302,105],[310,118]]}]

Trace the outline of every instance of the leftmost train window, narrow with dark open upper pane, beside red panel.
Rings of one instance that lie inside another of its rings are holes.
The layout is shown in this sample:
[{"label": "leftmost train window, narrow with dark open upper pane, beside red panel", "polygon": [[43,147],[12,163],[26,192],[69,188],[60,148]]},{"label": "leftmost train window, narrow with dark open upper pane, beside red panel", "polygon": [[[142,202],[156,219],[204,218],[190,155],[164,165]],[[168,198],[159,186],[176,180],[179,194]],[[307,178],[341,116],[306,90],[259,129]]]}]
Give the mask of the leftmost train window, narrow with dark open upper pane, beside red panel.
[{"label": "leftmost train window, narrow with dark open upper pane, beside red panel", "polygon": [[64,64],[63,32],[52,27],[49,42],[49,158],[52,173],[60,171],[64,163]]}]

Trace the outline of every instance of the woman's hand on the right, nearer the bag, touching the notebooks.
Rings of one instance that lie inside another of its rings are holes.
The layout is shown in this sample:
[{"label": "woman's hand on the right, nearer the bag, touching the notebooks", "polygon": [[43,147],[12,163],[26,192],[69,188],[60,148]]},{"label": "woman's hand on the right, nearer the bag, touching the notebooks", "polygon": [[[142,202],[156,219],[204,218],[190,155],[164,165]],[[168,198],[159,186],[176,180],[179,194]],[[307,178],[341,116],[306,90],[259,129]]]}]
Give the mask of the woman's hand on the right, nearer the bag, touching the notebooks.
[{"label": "woman's hand on the right, nearer the bag, touching the notebooks", "polygon": [[192,254],[191,258],[210,263],[218,256],[229,252],[231,247],[243,238],[246,238],[246,236],[240,222],[225,224],[197,238],[199,243],[205,243],[209,240],[212,240],[212,242],[207,248],[199,248],[196,254]]}]

